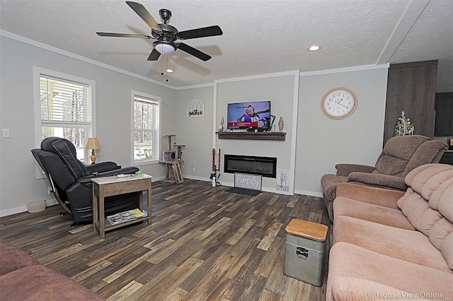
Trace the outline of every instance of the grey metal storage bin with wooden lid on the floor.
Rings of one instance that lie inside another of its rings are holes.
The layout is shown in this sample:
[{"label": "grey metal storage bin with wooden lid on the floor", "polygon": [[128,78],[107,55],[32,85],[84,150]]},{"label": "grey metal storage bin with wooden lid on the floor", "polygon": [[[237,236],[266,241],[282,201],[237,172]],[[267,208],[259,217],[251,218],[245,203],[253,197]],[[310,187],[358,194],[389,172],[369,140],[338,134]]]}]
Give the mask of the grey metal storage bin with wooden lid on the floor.
[{"label": "grey metal storage bin with wooden lid on the floor", "polygon": [[327,226],[291,220],[285,239],[286,276],[321,286],[326,261]]}]

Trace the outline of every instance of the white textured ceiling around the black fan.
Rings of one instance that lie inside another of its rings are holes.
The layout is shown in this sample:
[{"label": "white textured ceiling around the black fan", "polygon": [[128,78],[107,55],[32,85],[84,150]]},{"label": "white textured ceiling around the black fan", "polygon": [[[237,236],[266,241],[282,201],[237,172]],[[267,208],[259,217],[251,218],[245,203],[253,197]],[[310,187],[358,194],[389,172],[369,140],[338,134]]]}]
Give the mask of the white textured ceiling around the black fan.
[{"label": "white textured ceiling around the black fan", "polygon": [[[453,90],[452,0],[136,0],[161,23],[171,10],[178,30],[219,25],[224,35],[184,42],[210,54],[181,50],[147,61],[153,40],[99,37],[97,31],[150,35],[119,0],[0,1],[0,29],[173,86],[300,70],[439,59],[437,91]],[[319,52],[308,52],[310,45]]]}]

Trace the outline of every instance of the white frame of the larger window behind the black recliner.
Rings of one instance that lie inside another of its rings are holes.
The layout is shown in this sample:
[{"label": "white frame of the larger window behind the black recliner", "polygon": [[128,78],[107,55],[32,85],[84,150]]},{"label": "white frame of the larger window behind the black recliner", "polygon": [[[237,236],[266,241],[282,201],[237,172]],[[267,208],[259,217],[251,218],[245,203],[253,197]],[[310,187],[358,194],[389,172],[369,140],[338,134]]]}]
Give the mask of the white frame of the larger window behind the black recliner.
[{"label": "white frame of the larger window behind the black recliner", "polygon": [[[70,74],[61,73],[49,69],[43,69],[37,66],[33,66],[33,98],[35,100],[35,148],[41,147],[41,102],[40,102],[40,77],[51,76],[55,78],[62,78],[62,80],[74,81],[83,85],[89,85],[91,87],[91,126],[87,126],[85,133],[85,141],[89,137],[96,137],[96,81],[87,78],[81,78],[78,76],[72,76]],[[84,158],[88,160],[89,151],[85,150]],[[45,173],[37,165],[36,178],[45,178]]]}]

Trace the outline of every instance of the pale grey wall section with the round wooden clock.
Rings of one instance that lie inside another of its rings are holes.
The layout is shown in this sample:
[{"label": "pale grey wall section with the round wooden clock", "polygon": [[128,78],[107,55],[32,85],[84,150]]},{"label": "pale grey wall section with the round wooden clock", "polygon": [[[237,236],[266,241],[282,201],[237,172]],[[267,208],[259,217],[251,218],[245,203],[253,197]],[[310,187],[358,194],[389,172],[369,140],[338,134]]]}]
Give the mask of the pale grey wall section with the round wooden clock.
[{"label": "pale grey wall section with the round wooden clock", "polygon": [[[300,78],[297,193],[322,196],[320,179],[335,173],[337,163],[376,163],[384,136],[387,70],[384,66]],[[350,88],[357,96],[357,108],[346,119],[329,119],[321,111],[321,98],[335,87]]]}]

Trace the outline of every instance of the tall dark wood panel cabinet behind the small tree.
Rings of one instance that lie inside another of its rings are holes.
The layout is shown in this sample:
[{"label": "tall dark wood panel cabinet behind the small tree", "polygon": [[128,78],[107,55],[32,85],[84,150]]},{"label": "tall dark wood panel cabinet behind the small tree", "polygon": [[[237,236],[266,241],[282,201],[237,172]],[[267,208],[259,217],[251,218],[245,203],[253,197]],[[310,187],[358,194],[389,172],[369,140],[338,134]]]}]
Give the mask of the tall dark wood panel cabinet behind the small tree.
[{"label": "tall dark wood panel cabinet behind the small tree", "polygon": [[436,79],[437,60],[390,65],[384,145],[395,135],[395,125],[402,111],[411,119],[414,134],[434,137]]}]

